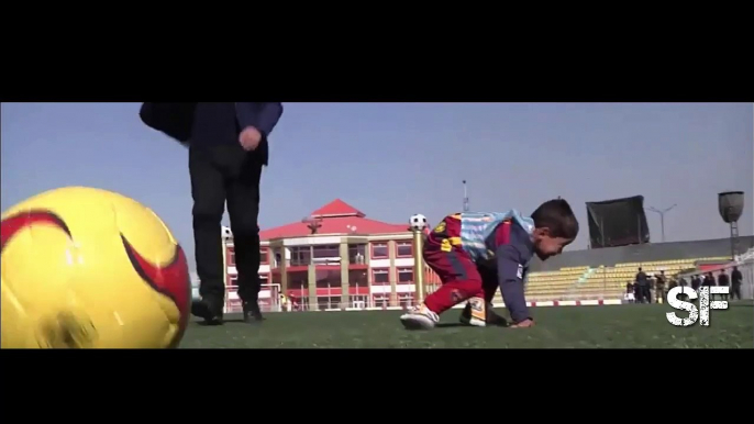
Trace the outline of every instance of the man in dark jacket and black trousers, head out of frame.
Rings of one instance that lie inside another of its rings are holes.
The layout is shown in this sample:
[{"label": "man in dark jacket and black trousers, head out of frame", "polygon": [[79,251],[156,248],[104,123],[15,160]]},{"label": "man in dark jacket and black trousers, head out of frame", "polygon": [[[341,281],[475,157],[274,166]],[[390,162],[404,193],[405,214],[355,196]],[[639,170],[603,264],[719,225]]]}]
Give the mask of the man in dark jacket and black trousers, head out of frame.
[{"label": "man in dark jacket and black trousers, head out of frame", "polygon": [[259,295],[259,181],[268,137],[282,115],[277,102],[144,103],[142,120],[188,145],[193,239],[201,300],[191,313],[223,323],[222,215],[231,219],[244,321],[263,320]]}]

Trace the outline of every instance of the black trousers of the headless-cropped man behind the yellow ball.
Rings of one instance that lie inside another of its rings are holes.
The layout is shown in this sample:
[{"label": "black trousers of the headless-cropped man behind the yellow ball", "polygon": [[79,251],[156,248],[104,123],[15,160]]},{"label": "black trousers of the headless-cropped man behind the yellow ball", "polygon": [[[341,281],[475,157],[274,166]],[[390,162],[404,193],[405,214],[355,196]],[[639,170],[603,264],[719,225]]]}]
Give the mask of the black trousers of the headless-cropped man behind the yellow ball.
[{"label": "black trousers of the headless-cropped man behind the yellow ball", "polygon": [[189,174],[193,197],[193,241],[202,298],[223,299],[222,215],[228,202],[239,298],[257,302],[259,297],[259,149],[246,152],[239,143],[191,146]]}]

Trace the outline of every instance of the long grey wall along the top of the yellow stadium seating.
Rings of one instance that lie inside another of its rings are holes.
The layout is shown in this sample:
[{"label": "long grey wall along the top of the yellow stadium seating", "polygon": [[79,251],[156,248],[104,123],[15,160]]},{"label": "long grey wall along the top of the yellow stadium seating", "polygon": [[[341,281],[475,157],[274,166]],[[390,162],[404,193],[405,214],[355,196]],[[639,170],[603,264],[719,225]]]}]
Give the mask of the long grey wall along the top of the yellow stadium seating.
[{"label": "long grey wall along the top of the yellow stadium seating", "polygon": [[[754,236],[739,237],[739,253],[746,252],[750,247],[754,247]],[[600,265],[614,266],[616,264],[624,263],[718,257],[730,256],[730,238],[650,243],[645,245],[566,252],[561,256],[547,259],[545,263],[535,258],[532,261],[531,271],[558,270],[565,267],[598,267]]]}]

